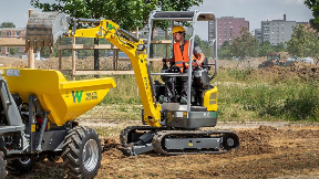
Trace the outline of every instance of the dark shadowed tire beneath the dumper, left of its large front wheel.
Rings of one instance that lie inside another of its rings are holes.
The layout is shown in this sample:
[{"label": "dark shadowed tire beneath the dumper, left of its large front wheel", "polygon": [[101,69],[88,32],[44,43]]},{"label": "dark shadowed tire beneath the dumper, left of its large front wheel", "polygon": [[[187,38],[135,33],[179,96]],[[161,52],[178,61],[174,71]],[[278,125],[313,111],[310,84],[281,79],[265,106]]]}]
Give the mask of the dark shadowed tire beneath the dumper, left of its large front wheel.
[{"label": "dark shadowed tire beneath the dumper, left of its large front wheel", "polygon": [[19,158],[8,161],[7,169],[13,176],[20,176],[29,172],[34,165],[34,161],[31,158]]}]

